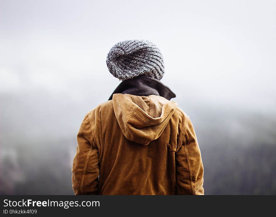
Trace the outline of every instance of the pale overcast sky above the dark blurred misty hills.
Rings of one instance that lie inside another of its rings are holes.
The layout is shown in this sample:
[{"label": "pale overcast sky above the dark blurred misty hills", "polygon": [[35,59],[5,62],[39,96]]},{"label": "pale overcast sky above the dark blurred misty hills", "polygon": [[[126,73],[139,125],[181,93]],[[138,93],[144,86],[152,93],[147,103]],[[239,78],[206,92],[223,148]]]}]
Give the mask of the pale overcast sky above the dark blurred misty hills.
[{"label": "pale overcast sky above the dark blurred misty hills", "polygon": [[275,110],[275,14],[276,1],[0,0],[0,92],[100,103],[119,84],[109,49],[145,39],[176,100]]}]

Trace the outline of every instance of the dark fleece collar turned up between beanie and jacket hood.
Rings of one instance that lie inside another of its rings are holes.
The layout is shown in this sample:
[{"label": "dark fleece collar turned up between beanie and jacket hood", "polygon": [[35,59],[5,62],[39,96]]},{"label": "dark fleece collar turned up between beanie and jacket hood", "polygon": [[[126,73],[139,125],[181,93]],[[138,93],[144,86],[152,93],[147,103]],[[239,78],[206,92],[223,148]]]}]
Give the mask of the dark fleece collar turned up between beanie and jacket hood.
[{"label": "dark fleece collar turned up between beanie and jacket hood", "polygon": [[139,75],[122,81],[108,100],[112,99],[114,93],[129,93],[137,96],[157,95],[167,100],[176,97],[175,93],[159,80],[145,75]]}]

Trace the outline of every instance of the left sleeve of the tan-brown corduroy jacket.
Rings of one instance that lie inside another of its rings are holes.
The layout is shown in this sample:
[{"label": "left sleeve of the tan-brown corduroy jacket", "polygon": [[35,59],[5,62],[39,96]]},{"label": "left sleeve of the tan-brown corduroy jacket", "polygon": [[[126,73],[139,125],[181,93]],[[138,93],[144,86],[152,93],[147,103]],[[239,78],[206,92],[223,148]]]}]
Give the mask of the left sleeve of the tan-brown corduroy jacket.
[{"label": "left sleeve of the tan-brown corduroy jacket", "polygon": [[72,187],[75,195],[98,194],[100,168],[94,136],[87,114],[77,134],[77,152],[73,159]]}]

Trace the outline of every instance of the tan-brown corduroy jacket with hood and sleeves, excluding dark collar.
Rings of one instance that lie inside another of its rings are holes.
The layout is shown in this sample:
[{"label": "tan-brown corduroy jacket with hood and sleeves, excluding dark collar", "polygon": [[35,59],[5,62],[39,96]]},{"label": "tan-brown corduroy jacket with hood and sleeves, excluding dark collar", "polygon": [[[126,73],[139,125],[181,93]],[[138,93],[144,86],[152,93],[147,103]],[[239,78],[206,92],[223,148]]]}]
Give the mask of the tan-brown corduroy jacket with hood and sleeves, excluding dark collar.
[{"label": "tan-brown corduroy jacket with hood and sleeves, excluding dark collar", "polygon": [[195,131],[174,101],[116,93],[88,112],[77,141],[75,194],[204,194]]}]

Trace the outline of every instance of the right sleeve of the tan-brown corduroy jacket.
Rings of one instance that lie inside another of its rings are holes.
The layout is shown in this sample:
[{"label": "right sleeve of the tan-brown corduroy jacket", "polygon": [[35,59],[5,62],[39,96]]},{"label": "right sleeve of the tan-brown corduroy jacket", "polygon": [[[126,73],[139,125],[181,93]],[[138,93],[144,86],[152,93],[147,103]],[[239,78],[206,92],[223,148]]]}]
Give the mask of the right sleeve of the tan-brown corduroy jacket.
[{"label": "right sleeve of the tan-brown corduroy jacket", "polygon": [[204,195],[201,153],[189,118],[183,128],[175,153],[177,193]]}]

